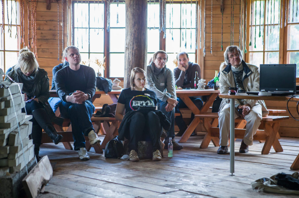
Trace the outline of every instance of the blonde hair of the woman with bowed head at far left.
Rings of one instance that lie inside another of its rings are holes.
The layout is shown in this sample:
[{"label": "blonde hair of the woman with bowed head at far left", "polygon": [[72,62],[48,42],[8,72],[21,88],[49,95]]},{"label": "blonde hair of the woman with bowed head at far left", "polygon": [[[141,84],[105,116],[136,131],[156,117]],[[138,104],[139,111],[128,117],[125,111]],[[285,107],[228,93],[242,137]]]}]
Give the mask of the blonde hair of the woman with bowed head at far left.
[{"label": "blonde hair of the woman with bowed head at far left", "polygon": [[37,72],[37,69],[39,68],[39,65],[36,61],[36,58],[34,56],[33,52],[30,51],[24,51],[21,54],[19,54],[18,63],[16,64],[15,69],[20,68],[22,72],[27,73],[30,71]]}]

